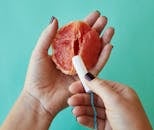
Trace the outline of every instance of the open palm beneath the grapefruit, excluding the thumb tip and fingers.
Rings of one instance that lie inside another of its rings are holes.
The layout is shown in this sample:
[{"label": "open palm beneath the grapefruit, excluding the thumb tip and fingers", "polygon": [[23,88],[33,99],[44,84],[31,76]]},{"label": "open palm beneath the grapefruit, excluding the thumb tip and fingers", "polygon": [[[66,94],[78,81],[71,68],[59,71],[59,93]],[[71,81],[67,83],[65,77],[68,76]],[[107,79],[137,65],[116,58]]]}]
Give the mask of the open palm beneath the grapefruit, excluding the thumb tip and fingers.
[{"label": "open palm beneath the grapefruit, excluding the thumb tip and fingers", "polygon": [[56,69],[51,56],[33,54],[25,88],[37,99],[41,100],[40,97],[43,97],[41,103],[47,110],[51,110],[51,106],[54,105],[58,112],[67,106],[67,98],[70,95],[68,86],[75,81],[75,78],[76,76],[65,75]]}]

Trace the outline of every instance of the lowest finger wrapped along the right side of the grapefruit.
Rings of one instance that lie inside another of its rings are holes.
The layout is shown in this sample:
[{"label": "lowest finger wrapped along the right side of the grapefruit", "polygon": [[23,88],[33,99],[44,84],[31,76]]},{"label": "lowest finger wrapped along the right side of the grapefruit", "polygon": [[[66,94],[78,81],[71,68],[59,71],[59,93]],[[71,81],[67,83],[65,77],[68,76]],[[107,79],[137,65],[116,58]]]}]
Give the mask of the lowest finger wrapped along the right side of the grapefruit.
[{"label": "lowest finger wrapped along the right side of the grapefruit", "polygon": [[112,48],[113,46],[111,44],[107,44],[106,46],[104,46],[98,58],[97,64],[90,70],[92,74],[97,75],[102,70],[110,57]]}]

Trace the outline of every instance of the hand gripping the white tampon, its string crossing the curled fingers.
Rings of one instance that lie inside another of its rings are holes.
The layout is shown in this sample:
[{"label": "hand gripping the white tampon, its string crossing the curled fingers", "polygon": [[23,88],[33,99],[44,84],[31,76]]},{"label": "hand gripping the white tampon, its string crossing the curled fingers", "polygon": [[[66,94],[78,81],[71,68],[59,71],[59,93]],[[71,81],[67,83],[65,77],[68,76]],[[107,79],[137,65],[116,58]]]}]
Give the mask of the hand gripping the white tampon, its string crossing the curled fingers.
[{"label": "hand gripping the white tampon, its string crossing the curled fingers", "polygon": [[[148,118],[135,91],[125,85],[95,78],[87,81],[89,88],[96,94],[98,130],[152,130]],[[70,88],[74,94],[69,98],[77,121],[93,128],[93,110],[89,94],[84,93],[80,82]]]}]

